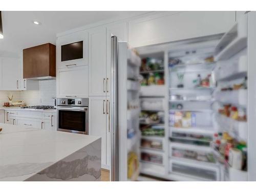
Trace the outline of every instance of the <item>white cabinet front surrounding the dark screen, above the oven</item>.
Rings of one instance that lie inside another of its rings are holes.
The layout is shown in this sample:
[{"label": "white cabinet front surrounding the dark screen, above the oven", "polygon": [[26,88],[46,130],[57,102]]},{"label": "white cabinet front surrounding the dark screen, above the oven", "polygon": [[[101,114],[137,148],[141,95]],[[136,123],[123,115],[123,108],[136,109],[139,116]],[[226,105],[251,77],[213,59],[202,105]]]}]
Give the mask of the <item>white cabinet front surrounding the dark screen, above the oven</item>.
[{"label": "white cabinet front surrounding the dark screen, above the oven", "polygon": [[[69,55],[71,52],[72,54]],[[56,53],[58,69],[88,65],[88,32],[79,31],[58,37],[56,41]]]}]

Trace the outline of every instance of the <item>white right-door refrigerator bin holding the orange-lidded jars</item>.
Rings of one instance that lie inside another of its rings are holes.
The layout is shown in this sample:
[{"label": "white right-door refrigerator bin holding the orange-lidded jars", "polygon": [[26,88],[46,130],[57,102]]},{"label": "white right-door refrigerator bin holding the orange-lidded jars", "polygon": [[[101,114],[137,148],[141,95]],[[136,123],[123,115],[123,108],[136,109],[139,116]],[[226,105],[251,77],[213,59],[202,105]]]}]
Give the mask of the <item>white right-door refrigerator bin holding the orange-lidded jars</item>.
[{"label": "white right-door refrigerator bin holding the orange-lidded jars", "polygon": [[217,122],[223,131],[227,131],[230,136],[238,139],[247,141],[247,122],[237,121],[224,115],[217,115]]}]

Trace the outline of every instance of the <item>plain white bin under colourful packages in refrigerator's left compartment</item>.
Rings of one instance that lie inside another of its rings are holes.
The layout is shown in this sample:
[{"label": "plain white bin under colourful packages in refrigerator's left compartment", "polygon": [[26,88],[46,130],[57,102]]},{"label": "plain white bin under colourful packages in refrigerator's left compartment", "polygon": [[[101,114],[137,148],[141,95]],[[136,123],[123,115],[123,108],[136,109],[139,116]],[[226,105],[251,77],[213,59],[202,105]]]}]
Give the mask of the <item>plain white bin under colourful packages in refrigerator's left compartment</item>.
[{"label": "plain white bin under colourful packages in refrigerator's left compartment", "polygon": [[152,86],[141,86],[140,87],[140,96],[164,96],[166,92],[164,85],[152,85]]}]

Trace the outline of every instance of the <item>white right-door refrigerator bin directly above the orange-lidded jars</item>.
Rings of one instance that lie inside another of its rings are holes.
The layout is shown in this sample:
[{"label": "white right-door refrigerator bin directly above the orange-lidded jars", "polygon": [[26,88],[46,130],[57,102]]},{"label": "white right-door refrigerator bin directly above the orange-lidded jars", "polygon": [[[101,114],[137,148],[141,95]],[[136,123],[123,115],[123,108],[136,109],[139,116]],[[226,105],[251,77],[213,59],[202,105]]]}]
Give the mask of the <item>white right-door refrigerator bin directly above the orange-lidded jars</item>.
[{"label": "white right-door refrigerator bin directly above the orange-lidded jars", "polygon": [[216,100],[226,104],[239,105],[247,108],[247,90],[218,91]]}]

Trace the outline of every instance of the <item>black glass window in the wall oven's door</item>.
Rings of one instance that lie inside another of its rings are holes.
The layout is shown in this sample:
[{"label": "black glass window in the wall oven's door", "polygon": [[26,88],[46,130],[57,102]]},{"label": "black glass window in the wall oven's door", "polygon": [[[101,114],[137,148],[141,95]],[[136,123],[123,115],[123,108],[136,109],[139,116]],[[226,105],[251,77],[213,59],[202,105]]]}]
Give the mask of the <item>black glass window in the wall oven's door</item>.
[{"label": "black glass window in the wall oven's door", "polygon": [[59,110],[58,113],[58,129],[86,132],[86,112]]}]

